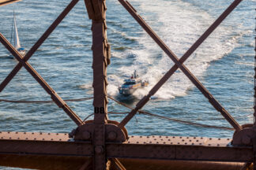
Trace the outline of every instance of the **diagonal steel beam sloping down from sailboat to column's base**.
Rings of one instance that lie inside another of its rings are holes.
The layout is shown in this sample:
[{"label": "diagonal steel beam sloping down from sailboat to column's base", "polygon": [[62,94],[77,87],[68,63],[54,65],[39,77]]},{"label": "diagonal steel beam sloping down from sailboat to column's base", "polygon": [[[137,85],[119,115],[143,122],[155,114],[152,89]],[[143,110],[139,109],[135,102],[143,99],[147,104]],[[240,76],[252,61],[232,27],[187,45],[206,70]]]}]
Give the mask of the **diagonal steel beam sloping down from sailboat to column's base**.
[{"label": "diagonal steel beam sloping down from sailboat to column's base", "polygon": [[21,65],[23,65],[24,68],[26,68],[28,72],[36,79],[36,81],[40,83],[43,89],[51,95],[51,99],[56,103],[56,105],[58,105],[58,107],[62,108],[78,126],[83,124],[83,121],[80,119],[80,117],[77,116],[77,114],[74,113],[72,109],[70,109],[66,102],[64,102],[62,98],[47,84],[43,77],[41,77],[40,74],[36,72],[36,70],[32,68],[31,65],[28,64],[28,62],[25,62],[23,60],[21,54],[19,54],[19,52],[8,42],[8,40],[1,33],[0,42],[2,42],[4,46],[6,46],[6,49],[9,50],[9,52],[13,54],[14,57],[16,57],[17,61],[19,61]]}]

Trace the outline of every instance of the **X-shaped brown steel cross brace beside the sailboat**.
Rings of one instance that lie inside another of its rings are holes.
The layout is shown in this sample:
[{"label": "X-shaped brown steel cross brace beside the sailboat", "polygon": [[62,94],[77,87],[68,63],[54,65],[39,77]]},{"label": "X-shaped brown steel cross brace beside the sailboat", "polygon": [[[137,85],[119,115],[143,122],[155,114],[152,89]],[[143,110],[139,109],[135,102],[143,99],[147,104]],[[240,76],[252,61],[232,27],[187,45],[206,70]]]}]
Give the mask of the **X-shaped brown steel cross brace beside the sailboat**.
[{"label": "X-shaped brown steel cross brace beside the sailboat", "polygon": [[77,4],[79,0],[73,0],[70,2],[70,4],[66,7],[66,9],[63,10],[63,12],[58,16],[58,18],[55,20],[53,24],[47,29],[47,31],[44,32],[44,34],[40,37],[40,39],[36,42],[34,46],[32,46],[31,50],[28,51],[28,54],[26,54],[24,57],[19,54],[19,52],[8,42],[8,40],[0,33],[0,42],[4,46],[6,46],[6,49],[9,50],[11,54],[13,54],[14,57],[16,57],[17,61],[19,61],[18,65],[13,68],[13,71],[9,73],[9,76],[6,77],[6,79],[1,83],[0,85],[0,92],[6,87],[6,85],[9,83],[11,79],[19,72],[19,70],[24,66],[24,68],[27,69],[27,71],[36,79],[38,83],[43,87],[45,91],[47,91],[48,94],[51,95],[52,100],[58,105],[58,107],[62,108],[68,116],[77,124],[81,125],[83,124],[83,121],[80,119],[79,116],[77,116],[76,113],[73,112],[72,109],[62,100],[60,96],[45,82],[43,77],[40,76],[38,72],[34,68],[32,68],[31,65],[27,62],[30,57],[32,57],[32,54],[36,52],[36,50],[42,45],[45,39],[51,34],[52,31],[55,30],[55,28],[58,26],[58,24],[63,20],[64,17],[70,12],[71,9],[73,9],[73,6]]}]

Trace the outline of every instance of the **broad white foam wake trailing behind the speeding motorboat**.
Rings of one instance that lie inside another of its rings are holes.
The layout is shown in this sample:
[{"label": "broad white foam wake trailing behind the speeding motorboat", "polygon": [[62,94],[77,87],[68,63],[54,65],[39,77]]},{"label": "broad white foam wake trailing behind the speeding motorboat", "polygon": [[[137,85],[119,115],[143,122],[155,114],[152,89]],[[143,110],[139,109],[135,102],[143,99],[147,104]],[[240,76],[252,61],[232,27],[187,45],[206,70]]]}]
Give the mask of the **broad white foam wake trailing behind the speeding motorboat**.
[{"label": "broad white foam wake trailing behind the speeding motorboat", "polygon": [[[137,11],[144,16],[146,22],[178,57],[181,57],[215,20],[205,11],[178,0],[171,2],[160,0],[154,6],[152,6],[152,2],[142,0],[140,4]],[[149,17],[147,13],[150,13]],[[219,60],[234,49],[235,42],[242,34],[234,35],[232,31],[232,28],[224,26],[217,28],[213,35],[210,35],[185,62],[186,67],[201,79],[211,61]],[[111,78],[111,85],[107,87],[109,94],[118,94],[117,88],[122,83],[122,79],[130,76],[136,69],[142,79],[149,80],[149,87],[139,89],[134,94],[137,98],[141,98],[173,65],[170,58],[160,50],[160,47],[156,46],[149,35],[145,33],[137,41],[144,48],[137,47],[137,49],[126,50],[119,54],[123,60],[129,60],[126,59],[129,55],[133,55],[135,58],[133,65],[117,68],[116,76],[108,76],[109,79]],[[183,75],[183,72],[176,72],[164,84],[164,87],[160,88],[155,97],[168,99],[184,96],[186,91],[192,87],[194,87],[193,84]]]}]

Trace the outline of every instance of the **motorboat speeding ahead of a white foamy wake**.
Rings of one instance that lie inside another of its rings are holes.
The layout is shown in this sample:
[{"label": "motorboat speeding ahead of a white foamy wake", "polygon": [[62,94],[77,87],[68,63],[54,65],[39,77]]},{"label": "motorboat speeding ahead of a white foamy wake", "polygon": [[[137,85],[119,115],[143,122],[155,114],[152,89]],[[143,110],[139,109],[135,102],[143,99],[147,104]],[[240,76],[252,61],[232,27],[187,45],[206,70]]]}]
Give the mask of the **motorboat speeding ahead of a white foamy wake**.
[{"label": "motorboat speeding ahead of a white foamy wake", "polygon": [[130,76],[130,79],[124,79],[124,83],[121,87],[119,87],[119,94],[124,96],[129,96],[133,94],[138,88],[147,87],[149,82],[144,80],[142,81],[141,78],[138,76],[136,70],[134,74]]}]

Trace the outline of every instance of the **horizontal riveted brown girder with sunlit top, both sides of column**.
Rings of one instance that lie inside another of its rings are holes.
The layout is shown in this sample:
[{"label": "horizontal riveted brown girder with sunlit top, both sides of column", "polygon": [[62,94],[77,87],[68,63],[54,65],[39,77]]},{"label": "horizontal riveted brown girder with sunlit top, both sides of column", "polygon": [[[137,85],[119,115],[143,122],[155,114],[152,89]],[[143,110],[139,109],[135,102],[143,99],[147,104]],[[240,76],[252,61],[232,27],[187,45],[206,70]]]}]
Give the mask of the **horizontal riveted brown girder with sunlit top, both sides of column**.
[{"label": "horizontal riveted brown girder with sunlit top, both sides of column", "polygon": [[[253,161],[251,146],[232,146],[231,139],[181,136],[130,136],[128,141],[107,142],[107,158],[172,161]],[[0,155],[93,157],[92,142],[73,141],[67,134],[0,132]],[[84,162],[85,163],[85,162]],[[125,166],[125,165],[124,165]]]}]

